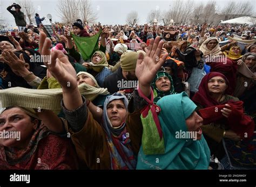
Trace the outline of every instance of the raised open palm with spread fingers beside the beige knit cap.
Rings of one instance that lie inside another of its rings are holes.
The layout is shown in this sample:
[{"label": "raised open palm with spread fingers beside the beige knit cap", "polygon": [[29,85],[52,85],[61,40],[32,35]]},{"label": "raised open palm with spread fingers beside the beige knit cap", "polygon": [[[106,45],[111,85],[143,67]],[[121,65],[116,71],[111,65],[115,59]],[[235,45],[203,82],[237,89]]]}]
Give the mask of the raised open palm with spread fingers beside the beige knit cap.
[{"label": "raised open palm with spread fingers beside the beige knit cap", "polygon": [[166,53],[161,59],[159,57],[163,44],[164,42],[160,41],[160,37],[157,37],[156,40],[151,39],[146,55],[139,54],[135,74],[139,80],[139,88],[145,96],[150,95],[151,82],[168,56]]}]

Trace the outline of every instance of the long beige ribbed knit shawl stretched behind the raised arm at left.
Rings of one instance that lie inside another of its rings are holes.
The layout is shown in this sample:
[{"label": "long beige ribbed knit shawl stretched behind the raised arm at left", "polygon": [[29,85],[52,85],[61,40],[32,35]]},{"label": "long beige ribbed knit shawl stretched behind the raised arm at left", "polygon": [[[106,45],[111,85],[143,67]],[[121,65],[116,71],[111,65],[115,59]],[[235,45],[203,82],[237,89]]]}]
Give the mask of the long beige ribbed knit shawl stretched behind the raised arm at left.
[{"label": "long beige ribbed knit shawl stretched behind the raised arm at left", "polygon": [[[81,95],[90,100],[95,99],[98,95],[109,94],[106,88],[95,88],[88,84],[81,84],[78,88]],[[62,89],[8,88],[0,90],[0,107],[21,106],[59,113],[62,98]]]}]

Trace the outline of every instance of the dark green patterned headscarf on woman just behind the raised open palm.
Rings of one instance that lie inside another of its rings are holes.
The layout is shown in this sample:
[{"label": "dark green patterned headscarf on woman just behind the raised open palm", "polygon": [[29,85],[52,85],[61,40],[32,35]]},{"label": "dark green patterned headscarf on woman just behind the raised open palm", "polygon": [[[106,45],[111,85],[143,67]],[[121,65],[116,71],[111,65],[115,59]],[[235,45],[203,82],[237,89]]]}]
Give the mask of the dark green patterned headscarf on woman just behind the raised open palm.
[{"label": "dark green patterned headscarf on woman just behind the raised open palm", "polygon": [[[169,91],[166,91],[166,92],[158,90],[158,88],[156,86],[156,81],[158,80],[158,78],[164,77],[164,76],[168,77],[170,82],[171,82],[171,89]],[[157,73],[156,77],[154,77],[154,81],[152,82],[151,85],[152,85],[153,89],[156,90],[156,92],[157,92],[157,96],[154,98],[154,103],[155,104],[157,103],[157,101],[160,98],[162,98],[164,96],[176,94],[176,92],[174,90],[174,86],[173,86],[172,77],[168,73],[166,73],[166,71],[158,71],[158,73]]]}]

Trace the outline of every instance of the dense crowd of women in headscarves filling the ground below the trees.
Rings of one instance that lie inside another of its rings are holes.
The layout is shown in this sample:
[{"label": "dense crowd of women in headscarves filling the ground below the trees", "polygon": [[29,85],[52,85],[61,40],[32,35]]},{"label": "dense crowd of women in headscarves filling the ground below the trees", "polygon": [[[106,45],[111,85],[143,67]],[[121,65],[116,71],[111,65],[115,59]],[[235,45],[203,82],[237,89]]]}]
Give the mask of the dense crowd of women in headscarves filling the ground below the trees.
[{"label": "dense crowd of women in headscarves filling the ground below the trees", "polygon": [[51,30],[1,36],[0,169],[256,168],[254,27]]}]

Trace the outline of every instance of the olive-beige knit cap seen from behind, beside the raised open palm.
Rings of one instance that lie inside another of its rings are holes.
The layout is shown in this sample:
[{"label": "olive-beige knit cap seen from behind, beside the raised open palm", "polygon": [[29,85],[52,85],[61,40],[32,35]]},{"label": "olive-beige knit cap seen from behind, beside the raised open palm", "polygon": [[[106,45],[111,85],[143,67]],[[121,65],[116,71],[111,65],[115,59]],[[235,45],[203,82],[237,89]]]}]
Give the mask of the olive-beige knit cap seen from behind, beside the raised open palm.
[{"label": "olive-beige knit cap seen from behind, beside the raised open palm", "polygon": [[121,68],[124,71],[135,71],[139,53],[126,52],[120,58]]}]

